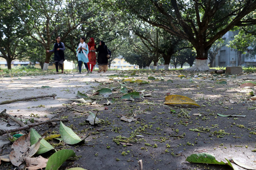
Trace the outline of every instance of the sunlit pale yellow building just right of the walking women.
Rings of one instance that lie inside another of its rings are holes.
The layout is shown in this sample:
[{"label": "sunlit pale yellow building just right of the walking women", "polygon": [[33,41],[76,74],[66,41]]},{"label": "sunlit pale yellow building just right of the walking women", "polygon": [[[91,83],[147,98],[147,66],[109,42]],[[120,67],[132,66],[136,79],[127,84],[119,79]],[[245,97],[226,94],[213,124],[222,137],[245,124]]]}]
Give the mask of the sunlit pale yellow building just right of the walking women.
[{"label": "sunlit pale yellow building just right of the walking women", "polygon": [[130,70],[130,69],[139,69],[138,65],[132,65],[127,63],[124,58],[117,57],[115,58],[110,65],[110,69],[121,69],[121,70]]}]

